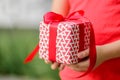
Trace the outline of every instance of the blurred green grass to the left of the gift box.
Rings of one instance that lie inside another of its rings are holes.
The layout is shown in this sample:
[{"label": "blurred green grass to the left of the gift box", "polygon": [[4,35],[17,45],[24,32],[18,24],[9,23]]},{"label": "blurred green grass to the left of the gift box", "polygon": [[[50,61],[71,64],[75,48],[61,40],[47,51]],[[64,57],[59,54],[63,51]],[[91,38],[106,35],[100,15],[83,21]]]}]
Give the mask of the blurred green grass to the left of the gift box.
[{"label": "blurred green grass to the left of the gift box", "polygon": [[25,57],[38,44],[38,30],[0,29],[0,74],[28,76],[39,80],[59,80],[58,71],[35,56],[28,64]]}]

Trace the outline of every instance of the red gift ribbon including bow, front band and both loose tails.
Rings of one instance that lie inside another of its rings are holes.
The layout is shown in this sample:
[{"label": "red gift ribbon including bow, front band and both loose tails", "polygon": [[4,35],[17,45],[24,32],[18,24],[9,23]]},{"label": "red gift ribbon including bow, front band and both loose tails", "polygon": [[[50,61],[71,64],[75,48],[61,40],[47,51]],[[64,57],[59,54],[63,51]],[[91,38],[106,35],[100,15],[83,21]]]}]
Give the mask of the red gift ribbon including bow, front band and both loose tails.
[{"label": "red gift ribbon including bow, front band and both loose tails", "polygon": [[[57,36],[57,27],[56,25],[60,22],[60,21],[64,21],[64,20],[77,20],[80,19],[81,16],[84,15],[83,11],[76,11],[73,12],[72,14],[70,14],[69,16],[67,16],[66,18],[64,18],[62,15],[60,14],[56,14],[54,12],[48,12],[47,14],[44,15],[44,22],[46,24],[52,24],[52,26],[50,26],[50,36],[49,36],[49,59],[51,61],[56,61],[56,36]],[[88,70],[81,76],[86,75],[87,73],[89,73],[95,63],[96,63],[96,48],[95,48],[95,38],[94,38],[94,31],[92,26],[90,27],[91,31],[90,31],[90,66],[88,67]],[[80,35],[81,36],[81,35]],[[83,35],[82,35],[83,38]],[[80,44],[83,44],[83,42],[81,42]],[[80,46],[80,51],[83,46]],[[33,52],[30,53],[30,55],[25,59],[24,63],[28,63],[30,61],[32,61],[32,59],[34,58],[35,54],[38,52],[39,50],[39,45],[36,46],[36,48],[33,50]],[[78,77],[81,77],[78,76]]]}]

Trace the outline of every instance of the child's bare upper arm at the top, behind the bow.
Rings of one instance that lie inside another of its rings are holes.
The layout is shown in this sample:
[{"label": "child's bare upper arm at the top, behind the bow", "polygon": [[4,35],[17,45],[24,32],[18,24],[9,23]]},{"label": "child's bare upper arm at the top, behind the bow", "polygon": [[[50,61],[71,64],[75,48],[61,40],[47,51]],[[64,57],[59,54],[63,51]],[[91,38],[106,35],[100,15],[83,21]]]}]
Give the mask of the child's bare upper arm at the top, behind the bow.
[{"label": "child's bare upper arm at the top, behind the bow", "polygon": [[53,0],[51,10],[65,17],[69,12],[69,8],[68,0]]}]

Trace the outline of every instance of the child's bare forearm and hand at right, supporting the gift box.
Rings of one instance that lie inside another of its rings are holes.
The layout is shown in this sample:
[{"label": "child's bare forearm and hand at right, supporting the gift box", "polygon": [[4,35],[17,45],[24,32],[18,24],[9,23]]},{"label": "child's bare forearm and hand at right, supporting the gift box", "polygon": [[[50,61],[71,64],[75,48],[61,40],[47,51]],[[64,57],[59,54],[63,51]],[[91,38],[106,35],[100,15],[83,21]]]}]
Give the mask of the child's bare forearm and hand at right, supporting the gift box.
[{"label": "child's bare forearm and hand at right, supporting the gift box", "polygon": [[[95,68],[98,67],[100,64],[105,62],[106,60],[120,58],[120,40],[97,46],[97,60]],[[78,54],[79,58],[84,58],[89,55],[89,50],[82,51]],[[89,59],[83,62],[80,62],[75,65],[68,65],[70,68],[76,71],[86,71],[89,66]]]}]

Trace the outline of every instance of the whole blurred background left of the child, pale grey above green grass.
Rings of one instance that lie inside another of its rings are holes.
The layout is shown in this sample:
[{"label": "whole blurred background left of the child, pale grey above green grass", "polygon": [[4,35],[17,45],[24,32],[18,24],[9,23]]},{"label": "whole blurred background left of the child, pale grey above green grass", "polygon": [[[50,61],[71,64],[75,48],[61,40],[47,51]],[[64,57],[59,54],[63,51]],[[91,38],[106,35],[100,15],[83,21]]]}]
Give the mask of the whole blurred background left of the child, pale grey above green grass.
[{"label": "whole blurred background left of the child, pale grey above green grass", "polygon": [[51,0],[0,0],[0,80],[59,80],[58,70],[24,59],[39,42],[39,22]]}]

